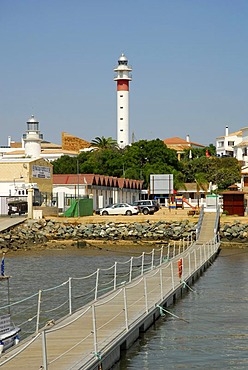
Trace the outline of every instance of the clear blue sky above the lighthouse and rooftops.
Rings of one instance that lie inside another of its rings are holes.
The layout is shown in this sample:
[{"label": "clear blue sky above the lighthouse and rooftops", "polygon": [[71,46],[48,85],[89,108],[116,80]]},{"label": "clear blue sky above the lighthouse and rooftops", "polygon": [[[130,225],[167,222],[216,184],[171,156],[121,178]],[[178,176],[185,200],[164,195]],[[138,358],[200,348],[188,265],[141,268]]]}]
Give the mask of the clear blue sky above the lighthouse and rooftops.
[{"label": "clear blue sky above the lighthouse and rooftops", "polygon": [[113,68],[133,68],[130,132],[215,143],[248,126],[247,0],[1,0],[0,144],[116,138]]}]

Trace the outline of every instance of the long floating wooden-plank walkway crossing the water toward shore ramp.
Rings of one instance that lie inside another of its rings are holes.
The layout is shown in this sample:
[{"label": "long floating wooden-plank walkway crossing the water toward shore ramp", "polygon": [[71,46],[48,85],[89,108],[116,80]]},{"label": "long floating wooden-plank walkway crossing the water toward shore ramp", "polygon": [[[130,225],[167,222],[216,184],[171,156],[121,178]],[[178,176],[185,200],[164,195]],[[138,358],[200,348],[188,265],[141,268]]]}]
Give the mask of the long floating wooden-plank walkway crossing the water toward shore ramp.
[{"label": "long floating wooden-plank walkway crossing the water toward shore ramp", "polygon": [[[175,292],[185,289],[186,282],[215,256],[217,249],[215,242],[192,244],[180,255],[131,283],[123,284],[55,325],[50,323],[44,331],[33,336],[32,342],[28,338],[3,354],[0,367],[4,370],[94,368],[97,362],[104,361],[111,349],[121,345],[128,347],[131,334],[136,331],[137,337],[141,325],[151,315],[156,312],[159,316],[157,306],[169,302]],[[179,259],[183,261],[181,278],[177,268]]]}]

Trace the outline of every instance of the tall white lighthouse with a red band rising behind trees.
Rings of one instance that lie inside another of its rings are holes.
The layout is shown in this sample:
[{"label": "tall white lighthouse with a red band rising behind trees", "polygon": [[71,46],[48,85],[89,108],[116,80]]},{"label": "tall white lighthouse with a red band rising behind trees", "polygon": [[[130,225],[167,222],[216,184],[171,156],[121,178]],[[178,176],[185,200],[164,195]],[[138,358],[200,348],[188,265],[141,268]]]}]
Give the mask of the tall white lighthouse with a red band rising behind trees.
[{"label": "tall white lighthouse with a red band rising behind trees", "polygon": [[114,69],[117,81],[117,143],[120,148],[129,144],[129,81],[132,77],[129,72],[132,68],[128,65],[125,54],[118,59],[118,66]]}]

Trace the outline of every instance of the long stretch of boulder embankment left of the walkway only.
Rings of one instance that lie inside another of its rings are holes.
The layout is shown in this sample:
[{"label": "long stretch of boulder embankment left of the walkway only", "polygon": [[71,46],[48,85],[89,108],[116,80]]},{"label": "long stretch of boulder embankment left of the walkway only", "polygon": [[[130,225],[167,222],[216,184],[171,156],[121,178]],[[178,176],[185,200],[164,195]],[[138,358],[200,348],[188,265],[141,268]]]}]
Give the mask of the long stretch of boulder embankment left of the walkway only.
[{"label": "long stretch of boulder embankment left of the walkway only", "polygon": [[169,241],[195,235],[196,222],[158,221],[134,223],[80,224],[57,220],[27,220],[19,226],[0,233],[0,248],[21,249],[51,241],[82,240],[144,240]]}]

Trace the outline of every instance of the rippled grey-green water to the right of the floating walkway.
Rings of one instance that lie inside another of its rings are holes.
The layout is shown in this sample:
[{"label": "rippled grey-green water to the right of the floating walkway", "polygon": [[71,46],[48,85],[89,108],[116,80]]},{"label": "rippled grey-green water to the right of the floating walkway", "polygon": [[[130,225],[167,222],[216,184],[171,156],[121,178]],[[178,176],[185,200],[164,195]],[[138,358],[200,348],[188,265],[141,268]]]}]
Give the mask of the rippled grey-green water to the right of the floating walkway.
[{"label": "rippled grey-green water to the right of the floating walkway", "polygon": [[248,369],[248,249],[222,250],[116,369]]}]

